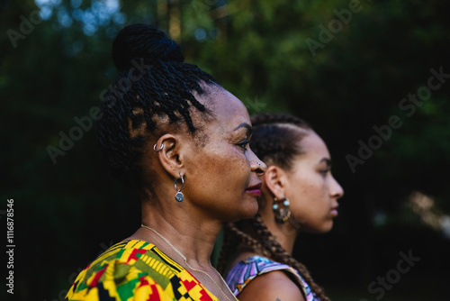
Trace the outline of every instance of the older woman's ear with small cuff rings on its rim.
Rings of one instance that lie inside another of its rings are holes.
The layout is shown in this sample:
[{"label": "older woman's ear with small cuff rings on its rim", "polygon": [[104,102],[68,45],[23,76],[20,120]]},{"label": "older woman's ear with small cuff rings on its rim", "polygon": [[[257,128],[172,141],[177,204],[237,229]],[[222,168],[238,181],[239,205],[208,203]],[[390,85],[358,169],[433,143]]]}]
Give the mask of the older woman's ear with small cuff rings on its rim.
[{"label": "older woman's ear with small cuff rings on its rim", "polygon": [[184,152],[180,139],[174,134],[164,134],[157,140],[155,150],[163,169],[174,178],[184,175]]}]

